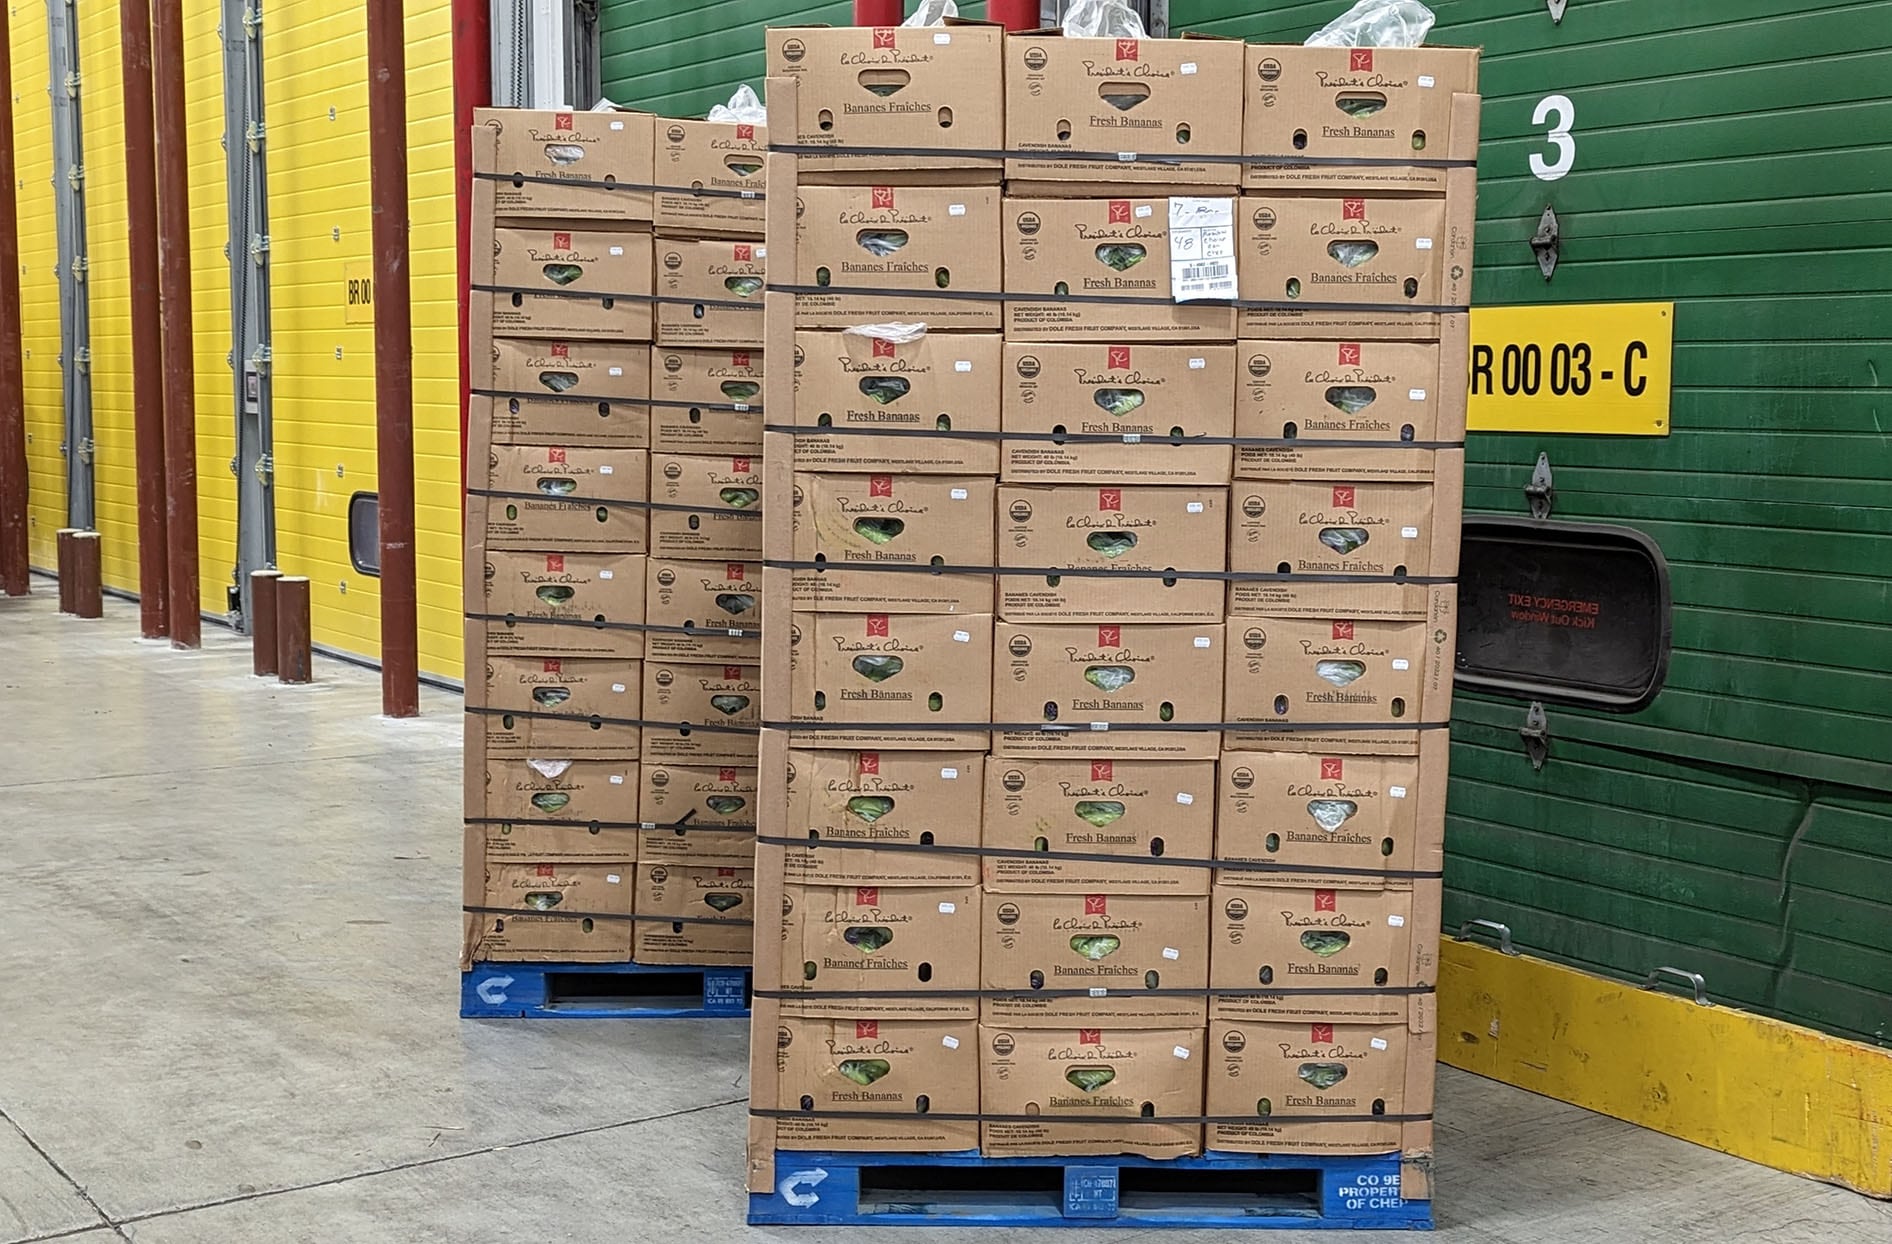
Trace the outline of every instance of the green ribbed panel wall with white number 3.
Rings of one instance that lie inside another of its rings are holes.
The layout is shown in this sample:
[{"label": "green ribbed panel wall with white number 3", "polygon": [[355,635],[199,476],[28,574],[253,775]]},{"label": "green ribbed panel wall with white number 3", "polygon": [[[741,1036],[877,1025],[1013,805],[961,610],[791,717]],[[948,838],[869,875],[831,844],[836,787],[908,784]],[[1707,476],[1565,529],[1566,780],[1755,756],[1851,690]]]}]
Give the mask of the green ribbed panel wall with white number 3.
[{"label": "green ribbed panel wall with white number 3", "polygon": [[[1892,2],[1430,2],[1485,49],[1476,301],[1678,304],[1671,437],[1472,437],[1468,509],[1523,512],[1542,450],[1559,518],[1663,546],[1674,664],[1637,717],[1551,709],[1542,773],[1521,705],[1461,698],[1447,924],[1892,1044]],[[1300,42],[1343,8],[1171,21]]]}]

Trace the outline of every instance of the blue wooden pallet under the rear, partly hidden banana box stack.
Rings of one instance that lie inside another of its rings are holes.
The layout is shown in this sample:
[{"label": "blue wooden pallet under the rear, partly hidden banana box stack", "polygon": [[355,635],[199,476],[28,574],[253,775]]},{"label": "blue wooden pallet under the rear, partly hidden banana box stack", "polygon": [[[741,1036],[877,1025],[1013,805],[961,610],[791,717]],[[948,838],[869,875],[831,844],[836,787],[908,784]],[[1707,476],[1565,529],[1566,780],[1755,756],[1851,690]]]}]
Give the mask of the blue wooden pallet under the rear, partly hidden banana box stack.
[{"label": "blue wooden pallet under the rear, partly hidden banana box stack", "polygon": [[462,1019],[744,1019],[747,968],[482,962],[460,974]]}]

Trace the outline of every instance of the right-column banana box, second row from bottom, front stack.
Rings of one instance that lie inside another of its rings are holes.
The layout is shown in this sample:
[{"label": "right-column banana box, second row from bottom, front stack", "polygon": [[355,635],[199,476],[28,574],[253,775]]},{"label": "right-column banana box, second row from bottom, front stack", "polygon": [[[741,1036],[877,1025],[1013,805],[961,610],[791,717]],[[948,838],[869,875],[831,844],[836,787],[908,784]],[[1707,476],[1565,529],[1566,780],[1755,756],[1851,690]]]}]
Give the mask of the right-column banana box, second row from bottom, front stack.
[{"label": "right-column banana box, second row from bottom, front stack", "polygon": [[[1215,887],[1211,1019],[1402,1021],[1408,991],[1430,985],[1415,942],[1415,890]],[[1266,993],[1270,985],[1349,993]],[[1222,993],[1226,991],[1226,993]]]}]

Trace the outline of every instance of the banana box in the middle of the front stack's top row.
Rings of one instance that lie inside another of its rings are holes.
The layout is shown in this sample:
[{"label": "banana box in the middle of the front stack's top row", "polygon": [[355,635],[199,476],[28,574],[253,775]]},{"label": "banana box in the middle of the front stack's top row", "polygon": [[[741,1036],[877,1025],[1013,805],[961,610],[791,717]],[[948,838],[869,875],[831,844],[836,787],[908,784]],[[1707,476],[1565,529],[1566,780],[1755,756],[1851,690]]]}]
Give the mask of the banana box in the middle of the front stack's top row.
[{"label": "banana box in the middle of the front stack's top row", "polygon": [[1005,178],[1052,195],[1234,193],[1239,83],[1235,40],[1007,36]]}]

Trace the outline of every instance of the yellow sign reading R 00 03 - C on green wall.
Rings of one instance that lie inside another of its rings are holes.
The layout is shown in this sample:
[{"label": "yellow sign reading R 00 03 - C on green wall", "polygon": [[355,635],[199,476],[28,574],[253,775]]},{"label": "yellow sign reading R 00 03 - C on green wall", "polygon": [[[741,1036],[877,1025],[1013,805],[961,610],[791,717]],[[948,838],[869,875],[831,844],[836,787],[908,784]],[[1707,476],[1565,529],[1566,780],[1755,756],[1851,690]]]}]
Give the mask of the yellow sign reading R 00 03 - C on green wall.
[{"label": "yellow sign reading R 00 03 - C on green wall", "polygon": [[1674,302],[1472,308],[1470,431],[1667,437]]}]

